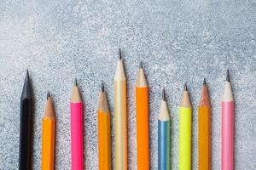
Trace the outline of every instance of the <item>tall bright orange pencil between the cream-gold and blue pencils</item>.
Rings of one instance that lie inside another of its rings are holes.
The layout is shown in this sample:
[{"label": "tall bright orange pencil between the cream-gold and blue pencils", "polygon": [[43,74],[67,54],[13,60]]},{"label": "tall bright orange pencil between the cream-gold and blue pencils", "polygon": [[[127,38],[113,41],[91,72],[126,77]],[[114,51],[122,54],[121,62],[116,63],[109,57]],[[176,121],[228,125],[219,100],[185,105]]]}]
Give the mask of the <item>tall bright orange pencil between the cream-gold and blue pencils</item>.
[{"label": "tall bright orange pencil between the cream-gold and blue pencils", "polygon": [[149,135],[148,135],[148,84],[140,63],[136,83],[137,109],[137,169],[149,169]]}]

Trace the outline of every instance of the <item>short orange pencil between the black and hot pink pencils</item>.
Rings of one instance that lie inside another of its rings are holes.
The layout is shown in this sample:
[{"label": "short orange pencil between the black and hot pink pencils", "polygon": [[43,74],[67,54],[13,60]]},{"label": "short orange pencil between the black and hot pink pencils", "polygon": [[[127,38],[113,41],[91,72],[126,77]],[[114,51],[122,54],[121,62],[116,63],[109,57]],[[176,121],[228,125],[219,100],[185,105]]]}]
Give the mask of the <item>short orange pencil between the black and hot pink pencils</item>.
[{"label": "short orange pencil between the black and hot pink pencils", "polygon": [[53,170],[55,161],[55,111],[52,99],[47,94],[47,102],[42,119],[41,170]]}]

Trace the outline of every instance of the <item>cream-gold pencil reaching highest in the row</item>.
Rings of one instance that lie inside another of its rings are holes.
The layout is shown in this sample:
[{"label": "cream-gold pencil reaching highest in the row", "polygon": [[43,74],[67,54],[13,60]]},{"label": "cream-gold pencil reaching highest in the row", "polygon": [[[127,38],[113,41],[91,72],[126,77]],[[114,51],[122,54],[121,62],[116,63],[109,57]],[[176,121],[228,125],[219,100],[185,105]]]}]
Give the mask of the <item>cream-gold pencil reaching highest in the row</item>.
[{"label": "cream-gold pencil reaching highest in the row", "polygon": [[115,169],[127,169],[126,78],[121,50],[114,76]]}]

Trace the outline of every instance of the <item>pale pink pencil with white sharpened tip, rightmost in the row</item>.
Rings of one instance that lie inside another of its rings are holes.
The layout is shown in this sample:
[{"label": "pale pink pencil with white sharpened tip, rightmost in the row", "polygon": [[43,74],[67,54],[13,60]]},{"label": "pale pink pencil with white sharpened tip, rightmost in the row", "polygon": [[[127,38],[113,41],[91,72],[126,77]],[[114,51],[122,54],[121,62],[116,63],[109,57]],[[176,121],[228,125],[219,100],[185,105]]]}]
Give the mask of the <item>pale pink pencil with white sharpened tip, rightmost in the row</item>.
[{"label": "pale pink pencil with white sharpened tip, rightmost in the row", "polygon": [[234,99],[230,84],[230,74],[227,78],[222,101],[222,142],[221,142],[221,167],[222,170],[233,170],[233,145],[234,145]]}]

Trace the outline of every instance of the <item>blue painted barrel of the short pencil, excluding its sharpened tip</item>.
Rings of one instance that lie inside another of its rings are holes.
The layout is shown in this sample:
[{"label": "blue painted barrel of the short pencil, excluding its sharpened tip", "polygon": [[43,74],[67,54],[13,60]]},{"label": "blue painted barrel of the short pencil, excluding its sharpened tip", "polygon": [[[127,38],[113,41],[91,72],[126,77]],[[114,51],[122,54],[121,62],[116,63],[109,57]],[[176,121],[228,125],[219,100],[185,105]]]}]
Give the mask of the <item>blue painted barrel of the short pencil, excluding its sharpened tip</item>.
[{"label": "blue painted barrel of the short pencil, excluding its sharpened tip", "polygon": [[158,169],[171,169],[170,120],[158,121]]}]

